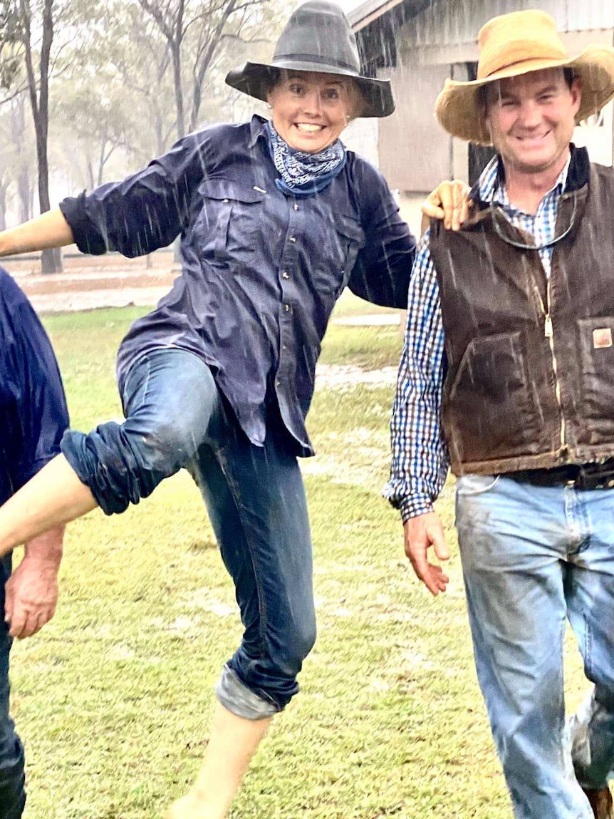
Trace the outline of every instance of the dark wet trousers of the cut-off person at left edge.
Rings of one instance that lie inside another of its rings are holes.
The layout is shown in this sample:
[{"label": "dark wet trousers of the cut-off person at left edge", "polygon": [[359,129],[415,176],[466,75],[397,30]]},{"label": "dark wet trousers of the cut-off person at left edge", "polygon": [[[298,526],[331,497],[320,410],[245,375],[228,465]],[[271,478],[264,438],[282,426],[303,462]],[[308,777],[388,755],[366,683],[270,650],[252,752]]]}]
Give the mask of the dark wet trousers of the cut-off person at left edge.
[{"label": "dark wet trousers of the cut-off person at left edge", "polygon": [[24,749],[9,717],[8,661],[11,638],[4,622],[4,584],[11,576],[11,555],[0,560],[0,819],[19,819],[25,805]]}]

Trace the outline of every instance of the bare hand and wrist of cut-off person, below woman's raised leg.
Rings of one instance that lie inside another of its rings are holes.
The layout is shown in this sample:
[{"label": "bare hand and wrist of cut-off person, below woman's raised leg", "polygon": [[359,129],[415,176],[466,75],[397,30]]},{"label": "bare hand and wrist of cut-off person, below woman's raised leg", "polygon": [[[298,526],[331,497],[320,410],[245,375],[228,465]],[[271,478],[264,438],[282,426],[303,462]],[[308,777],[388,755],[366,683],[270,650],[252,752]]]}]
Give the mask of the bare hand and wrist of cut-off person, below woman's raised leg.
[{"label": "bare hand and wrist of cut-off person, below woman's raised leg", "polygon": [[24,559],[7,580],[4,618],[11,637],[23,640],[36,634],[56,612],[63,534],[64,527],[57,527],[29,541]]}]

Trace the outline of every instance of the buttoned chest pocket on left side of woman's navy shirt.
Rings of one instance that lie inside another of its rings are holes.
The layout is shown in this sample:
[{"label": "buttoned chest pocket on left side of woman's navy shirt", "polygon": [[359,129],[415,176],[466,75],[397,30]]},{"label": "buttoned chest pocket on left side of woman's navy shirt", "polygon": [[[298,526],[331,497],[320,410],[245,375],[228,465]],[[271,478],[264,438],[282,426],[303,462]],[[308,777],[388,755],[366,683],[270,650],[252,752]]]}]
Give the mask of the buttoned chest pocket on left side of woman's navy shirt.
[{"label": "buttoned chest pocket on left side of woman's navy shirt", "polygon": [[198,188],[201,213],[194,232],[203,256],[219,262],[245,262],[264,235],[265,192],[232,179],[205,179]]}]

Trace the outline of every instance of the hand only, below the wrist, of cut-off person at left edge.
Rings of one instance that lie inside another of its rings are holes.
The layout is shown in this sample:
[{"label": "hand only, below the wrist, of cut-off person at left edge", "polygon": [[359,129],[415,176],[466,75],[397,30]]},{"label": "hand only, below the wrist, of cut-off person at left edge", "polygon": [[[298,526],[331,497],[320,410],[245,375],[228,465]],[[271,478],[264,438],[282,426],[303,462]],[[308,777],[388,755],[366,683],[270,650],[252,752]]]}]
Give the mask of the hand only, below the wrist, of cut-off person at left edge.
[{"label": "hand only, below the wrist, of cut-off person at left edge", "polygon": [[56,612],[57,569],[54,560],[27,555],[5,586],[4,618],[9,634],[23,640],[40,631]]}]

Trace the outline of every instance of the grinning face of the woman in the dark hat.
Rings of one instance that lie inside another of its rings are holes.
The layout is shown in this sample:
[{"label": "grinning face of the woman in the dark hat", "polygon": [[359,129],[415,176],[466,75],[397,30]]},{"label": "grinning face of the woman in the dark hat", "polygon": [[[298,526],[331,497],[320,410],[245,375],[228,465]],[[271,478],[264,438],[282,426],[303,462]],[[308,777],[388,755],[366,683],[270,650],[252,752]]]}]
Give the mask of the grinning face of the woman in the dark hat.
[{"label": "grinning face of the woman in the dark hat", "polygon": [[350,78],[284,71],[268,99],[279,136],[296,151],[317,153],[339,137],[359,107],[360,94]]}]

